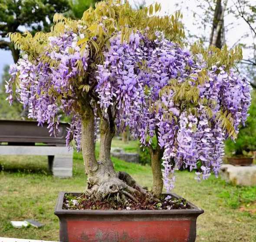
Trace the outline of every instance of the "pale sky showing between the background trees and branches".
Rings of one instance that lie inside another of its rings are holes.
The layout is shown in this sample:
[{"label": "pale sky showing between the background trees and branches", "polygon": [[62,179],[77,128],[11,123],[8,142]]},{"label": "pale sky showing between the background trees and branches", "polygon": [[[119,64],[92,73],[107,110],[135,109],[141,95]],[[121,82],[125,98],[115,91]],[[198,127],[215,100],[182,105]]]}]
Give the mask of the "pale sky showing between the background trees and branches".
[{"label": "pale sky showing between the background trees and branches", "polygon": [[[159,15],[170,15],[172,13],[174,13],[177,10],[177,7],[175,7],[175,3],[178,3],[180,0],[157,0],[158,3],[161,3],[161,12],[159,13]],[[199,12],[199,14],[203,14],[200,13],[200,10],[198,8],[196,8],[197,3],[200,0],[185,0],[184,4],[182,5],[183,7],[181,8],[181,11],[183,13],[183,23],[186,29],[189,29],[190,32],[192,32],[194,35],[199,35],[200,32],[205,32],[206,36],[210,36],[210,29],[203,29],[200,28],[200,23],[197,24],[197,19],[194,18],[194,16],[192,15],[191,11],[187,11],[186,7],[189,7],[191,10],[197,10],[197,12]],[[250,0],[252,4],[256,4],[256,0]],[[130,0],[130,3],[132,5],[135,6],[135,3],[138,4],[138,2],[142,2],[138,1],[138,0]],[[145,0],[145,5],[148,6],[151,3],[155,3],[155,0]],[[228,6],[230,6],[230,4],[233,4],[233,0],[229,0],[228,1]],[[201,10],[202,11],[202,10]],[[229,47],[232,47],[236,41],[238,41],[241,36],[243,36],[246,32],[249,32],[249,27],[248,25],[242,20],[242,19],[237,19],[232,15],[227,15],[225,16],[225,25],[230,25],[231,23],[235,23],[235,25],[233,25],[233,29],[228,31],[226,33],[226,44]],[[243,43],[245,44],[250,44],[253,42],[253,38],[252,35],[249,35],[246,38],[242,38],[241,40]],[[249,57],[249,50],[243,50],[243,56],[244,58]],[[10,51],[3,51],[0,50],[0,76],[3,73],[3,67],[5,65],[10,65],[13,64],[13,58],[11,55]]]}]

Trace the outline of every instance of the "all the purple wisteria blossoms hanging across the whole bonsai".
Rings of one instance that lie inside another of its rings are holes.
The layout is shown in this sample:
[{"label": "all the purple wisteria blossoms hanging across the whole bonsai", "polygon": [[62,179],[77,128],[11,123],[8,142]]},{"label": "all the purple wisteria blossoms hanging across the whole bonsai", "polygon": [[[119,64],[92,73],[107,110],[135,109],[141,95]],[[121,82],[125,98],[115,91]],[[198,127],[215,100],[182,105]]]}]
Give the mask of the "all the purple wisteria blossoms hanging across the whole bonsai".
[{"label": "all the purple wisteria blossoms hanging across the whole bonsai", "polygon": [[[103,116],[111,110],[118,131],[129,126],[142,145],[150,145],[157,136],[163,150],[167,191],[174,187],[175,169],[198,169],[197,179],[206,179],[211,172],[217,175],[223,142],[230,135],[218,115],[230,114],[234,133],[239,132],[248,116],[249,83],[225,66],[208,68],[201,54],[190,53],[163,33],[155,32],[155,36],[150,39],[146,29],[143,34],[131,33],[129,41],[121,41],[121,32],[117,32],[104,47],[102,62],[95,65],[89,45],[78,44],[84,35],[79,29],[67,29],[64,34],[49,37],[43,58],[30,60],[24,54],[10,68],[7,99],[12,103],[17,96],[28,108],[30,118],[39,125],[49,124],[51,134],[58,128],[60,111],[69,115],[72,122],[66,143],[74,139],[80,149],[77,89],[82,90],[83,97],[93,97],[90,102],[96,123],[98,109]],[[92,40],[97,41],[97,37]],[[200,73],[207,76],[203,82]],[[83,79],[89,80],[86,85]],[[16,93],[13,86],[18,86]],[[186,96],[182,90],[193,93]],[[193,95],[197,95],[196,101]]]}]

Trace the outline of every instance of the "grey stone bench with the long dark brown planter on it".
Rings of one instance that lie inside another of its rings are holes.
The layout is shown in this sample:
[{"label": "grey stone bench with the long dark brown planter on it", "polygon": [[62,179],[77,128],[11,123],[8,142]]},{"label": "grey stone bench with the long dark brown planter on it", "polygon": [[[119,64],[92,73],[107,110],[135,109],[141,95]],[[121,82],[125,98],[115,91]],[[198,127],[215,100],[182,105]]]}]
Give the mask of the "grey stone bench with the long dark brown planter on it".
[{"label": "grey stone bench with the long dark brown planter on it", "polygon": [[0,155],[46,155],[54,176],[70,177],[73,149],[66,147],[67,127],[68,124],[61,123],[56,137],[50,137],[46,125],[38,127],[34,121],[0,120]]}]

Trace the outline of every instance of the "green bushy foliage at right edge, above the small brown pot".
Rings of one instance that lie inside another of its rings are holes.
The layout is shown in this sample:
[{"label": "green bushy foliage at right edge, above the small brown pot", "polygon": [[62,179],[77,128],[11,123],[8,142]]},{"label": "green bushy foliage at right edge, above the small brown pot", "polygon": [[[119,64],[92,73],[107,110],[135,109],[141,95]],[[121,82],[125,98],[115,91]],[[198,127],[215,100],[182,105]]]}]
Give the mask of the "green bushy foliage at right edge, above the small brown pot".
[{"label": "green bushy foliage at right edge, above the small brown pot", "polygon": [[226,141],[227,154],[242,155],[243,152],[256,150],[256,91],[252,92],[252,102],[245,127],[240,127],[236,143]]}]

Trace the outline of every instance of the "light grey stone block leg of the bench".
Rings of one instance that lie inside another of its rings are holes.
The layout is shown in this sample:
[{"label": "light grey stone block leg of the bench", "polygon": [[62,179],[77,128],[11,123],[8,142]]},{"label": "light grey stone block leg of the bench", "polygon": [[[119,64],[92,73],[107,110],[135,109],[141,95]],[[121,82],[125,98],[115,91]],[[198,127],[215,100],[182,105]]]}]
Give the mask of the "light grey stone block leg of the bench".
[{"label": "light grey stone block leg of the bench", "polygon": [[57,177],[71,177],[73,155],[56,155],[53,159],[53,175]]}]

